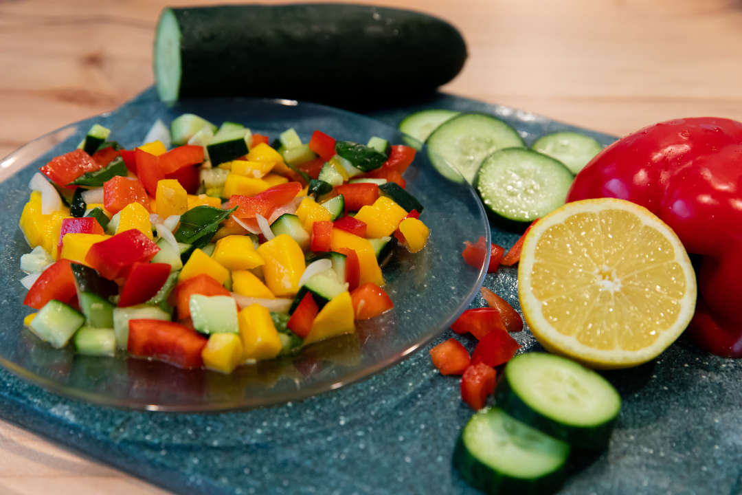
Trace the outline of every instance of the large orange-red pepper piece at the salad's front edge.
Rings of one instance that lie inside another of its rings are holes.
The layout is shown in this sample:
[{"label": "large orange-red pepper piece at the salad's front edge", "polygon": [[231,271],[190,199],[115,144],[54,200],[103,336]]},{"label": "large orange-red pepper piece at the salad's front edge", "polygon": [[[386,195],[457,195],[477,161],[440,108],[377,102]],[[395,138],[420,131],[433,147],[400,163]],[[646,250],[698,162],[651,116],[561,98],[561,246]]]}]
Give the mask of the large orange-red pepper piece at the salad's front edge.
[{"label": "large orange-red pepper piece at the salad's front edge", "polygon": [[203,366],[206,337],[172,321],[129,320],[128,351],[181,368]]}]

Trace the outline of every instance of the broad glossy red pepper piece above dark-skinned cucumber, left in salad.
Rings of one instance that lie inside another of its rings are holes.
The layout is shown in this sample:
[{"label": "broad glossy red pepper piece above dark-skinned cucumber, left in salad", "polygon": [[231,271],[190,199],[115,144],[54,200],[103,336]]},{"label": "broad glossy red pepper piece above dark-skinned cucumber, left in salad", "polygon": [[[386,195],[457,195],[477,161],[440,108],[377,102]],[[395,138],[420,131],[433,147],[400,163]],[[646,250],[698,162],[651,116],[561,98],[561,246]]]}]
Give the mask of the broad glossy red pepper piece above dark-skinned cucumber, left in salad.
[{"label": "broad glossy red pepper piece above dark-skinned cucumber, left in salad", "polygon": [[108,280],[125,275],[137,261],[146,263],[160,248],[137,229],[114,235],[110,239],[93,244],[85,261]]}]

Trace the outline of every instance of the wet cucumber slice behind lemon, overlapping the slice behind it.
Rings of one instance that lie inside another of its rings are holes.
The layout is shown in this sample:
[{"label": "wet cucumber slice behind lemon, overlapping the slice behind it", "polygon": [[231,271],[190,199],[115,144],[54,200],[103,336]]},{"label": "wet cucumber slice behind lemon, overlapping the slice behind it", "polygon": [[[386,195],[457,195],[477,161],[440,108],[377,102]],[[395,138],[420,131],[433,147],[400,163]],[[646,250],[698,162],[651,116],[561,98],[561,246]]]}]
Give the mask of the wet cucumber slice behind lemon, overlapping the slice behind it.
[{"label": "wet cucumber slice behind lemon, overlapping the slice behind it", "polygon": [[485,159],[474,189],[493,221],[509,229],[525,229],[564,204],[573,177],[554,158],[510,148]]}]

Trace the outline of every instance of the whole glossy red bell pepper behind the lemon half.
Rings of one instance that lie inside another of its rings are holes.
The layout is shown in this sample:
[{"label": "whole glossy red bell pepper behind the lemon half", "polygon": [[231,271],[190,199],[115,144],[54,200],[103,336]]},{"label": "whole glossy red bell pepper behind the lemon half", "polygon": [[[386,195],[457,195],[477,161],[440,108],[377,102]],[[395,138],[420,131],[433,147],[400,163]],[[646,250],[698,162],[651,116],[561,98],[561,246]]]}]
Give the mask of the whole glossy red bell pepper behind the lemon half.
[{"label": "whole glossy red bell pepper behind the lemon half", "polygon": [[646,207],[700,255],[691,336],[742,357],[742,123],[701,117],[650,125],[614,142],[574,180],[567,201],[617,197]]}]

